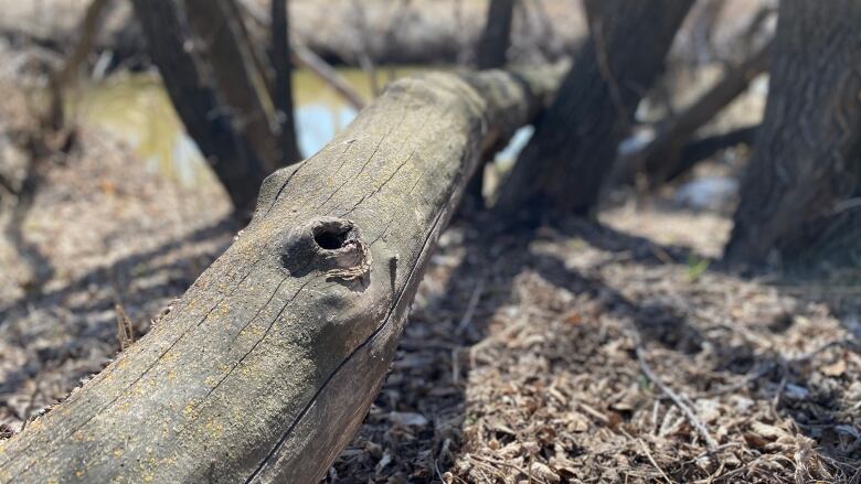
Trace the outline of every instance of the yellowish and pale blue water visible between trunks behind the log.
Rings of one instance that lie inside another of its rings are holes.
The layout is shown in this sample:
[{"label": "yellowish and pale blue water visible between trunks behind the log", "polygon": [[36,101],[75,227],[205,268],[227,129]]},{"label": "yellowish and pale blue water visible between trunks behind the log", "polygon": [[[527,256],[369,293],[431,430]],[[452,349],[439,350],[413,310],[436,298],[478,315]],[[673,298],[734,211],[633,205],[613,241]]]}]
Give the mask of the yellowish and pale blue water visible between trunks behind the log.
[{"label": "yellowish and pale blue water visible between trunks behind the log", "polygon": [[[379,72],[380,85],[422,68],[397,67]],[[357,68],[339,73],[364,98],[372,98],[370,77]],[[310,157],[355,117],[343,98],[307,69],[294,73],[294,103],[299,149]],[[166,176],[191,185],[209,176],[209,166],[185,135],[163,85],[150,74],[123,74],[79,93],[74,111],[85,125],[105,129],[129,143],[135,152]],[[498,160],[513,160],[531,129],[519,131]]]}]

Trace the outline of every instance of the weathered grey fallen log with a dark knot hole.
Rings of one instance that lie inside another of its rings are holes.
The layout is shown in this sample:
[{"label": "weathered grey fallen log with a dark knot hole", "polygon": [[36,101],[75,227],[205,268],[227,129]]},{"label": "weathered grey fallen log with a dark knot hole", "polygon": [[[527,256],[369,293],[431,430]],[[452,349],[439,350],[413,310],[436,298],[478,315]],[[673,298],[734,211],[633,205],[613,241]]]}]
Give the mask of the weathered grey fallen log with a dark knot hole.
[{"label": "weathered grey fallen log with a dark knot hole", "polygon": [[318,482],[382,385],[482,151],[561,74],[393,83],[266,179],[248,227],[149,334],[0,443],[0,482]]}]

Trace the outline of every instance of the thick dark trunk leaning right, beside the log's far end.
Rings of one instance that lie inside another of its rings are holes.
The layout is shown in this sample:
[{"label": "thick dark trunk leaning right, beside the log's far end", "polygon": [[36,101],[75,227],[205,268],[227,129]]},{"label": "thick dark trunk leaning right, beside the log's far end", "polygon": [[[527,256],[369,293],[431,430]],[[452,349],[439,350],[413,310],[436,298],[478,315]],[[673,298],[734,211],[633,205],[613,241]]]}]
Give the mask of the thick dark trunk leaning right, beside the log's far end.
[{"label": "thick dark trunk leaning right, beside the log's far end", "polygon": [[499,207],[587,213],[691,0],[588,0],[589,39],[500,192]]}]

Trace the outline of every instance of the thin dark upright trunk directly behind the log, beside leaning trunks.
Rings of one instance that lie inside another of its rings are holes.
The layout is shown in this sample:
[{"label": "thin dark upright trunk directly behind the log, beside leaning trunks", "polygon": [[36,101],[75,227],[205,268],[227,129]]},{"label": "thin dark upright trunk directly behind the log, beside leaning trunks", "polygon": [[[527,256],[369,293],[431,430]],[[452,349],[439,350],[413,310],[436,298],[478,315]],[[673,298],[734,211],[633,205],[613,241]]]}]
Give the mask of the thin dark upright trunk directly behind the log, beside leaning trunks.
[{"label": "thin dark upright trunk directly behind the log, beside leaning trunks", "polygon": [[272,62],[275,69],[273,97],[280,138],[283,165],[301,159],[293,116],[293,63],[290,62],[289,11],[287,0],[272,0]]}]

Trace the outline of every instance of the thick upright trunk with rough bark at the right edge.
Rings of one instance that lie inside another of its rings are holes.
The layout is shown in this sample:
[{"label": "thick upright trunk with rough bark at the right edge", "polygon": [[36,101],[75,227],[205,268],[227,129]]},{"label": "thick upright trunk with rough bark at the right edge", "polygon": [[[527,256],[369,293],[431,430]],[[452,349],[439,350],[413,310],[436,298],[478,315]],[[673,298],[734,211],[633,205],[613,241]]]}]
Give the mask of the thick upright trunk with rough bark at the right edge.
[{"label": "thick upright trunk with rough bark at the right edge", "polygon": [[[783,0],[763,126],[725,258],[786,259],[818,244],[861,170],[861,1]],[[844,215],[844,214],[842,214]]]}]

